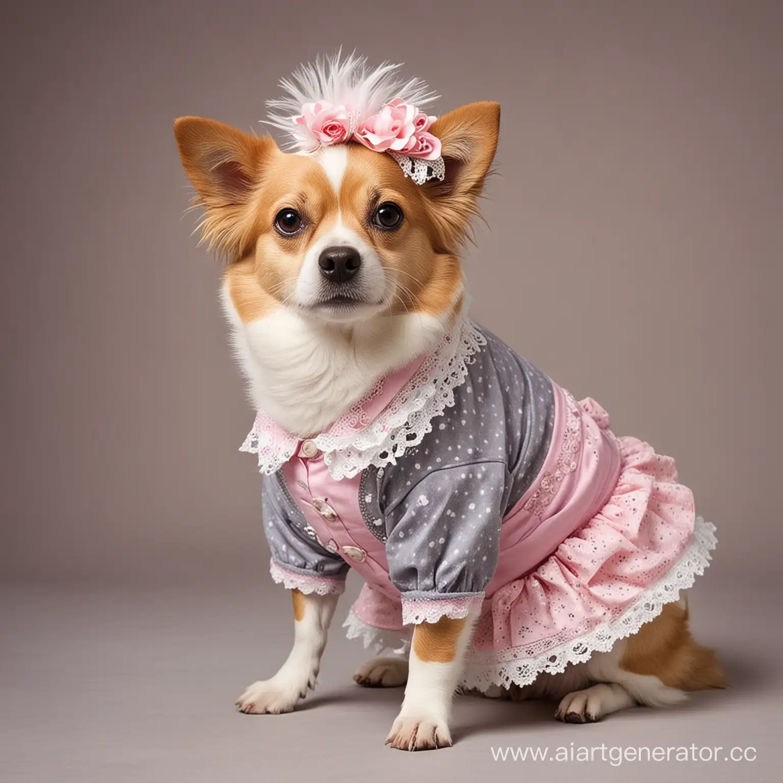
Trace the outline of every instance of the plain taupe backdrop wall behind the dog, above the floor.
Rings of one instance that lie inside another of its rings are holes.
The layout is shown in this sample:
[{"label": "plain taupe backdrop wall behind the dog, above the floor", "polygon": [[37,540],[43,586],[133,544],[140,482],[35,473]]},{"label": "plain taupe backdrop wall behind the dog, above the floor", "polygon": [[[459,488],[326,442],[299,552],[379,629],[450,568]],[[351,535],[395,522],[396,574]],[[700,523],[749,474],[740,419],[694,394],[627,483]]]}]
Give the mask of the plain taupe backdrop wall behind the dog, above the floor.
[{"label": "plain taupe backdrop wall behind the dog, above the floor", "polygon": [[2,567],[258,558],[253,415],[171,120],[262,130],[276,81],[342,44],[404,60],[441,112],[500,101],[474,316],[676,456],[720,567],[763,578],[783,542],[783,6],[382,5],[9,9]]}]

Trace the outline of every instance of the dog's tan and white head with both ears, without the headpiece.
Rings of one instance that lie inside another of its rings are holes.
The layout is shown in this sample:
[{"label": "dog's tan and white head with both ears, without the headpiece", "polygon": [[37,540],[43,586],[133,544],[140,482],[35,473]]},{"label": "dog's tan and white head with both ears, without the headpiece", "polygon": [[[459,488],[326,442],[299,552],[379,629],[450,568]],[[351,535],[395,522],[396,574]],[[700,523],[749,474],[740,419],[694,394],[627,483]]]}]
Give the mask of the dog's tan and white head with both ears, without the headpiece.
[{"label": "dog's tan and white head with both ears, without the headpiece", "polygon": [[[430,118],[431,119],[431,118]],[[439,118],[442,180],[407,177],[389,154],[351,138],[285,153],[201,117],[175,121],[182,164],[204,209],[204,239],[226,255],[244,323],[276,309],[327,322],[456,309],[456,253],[470,230],[496,149],[497,103]]]}]

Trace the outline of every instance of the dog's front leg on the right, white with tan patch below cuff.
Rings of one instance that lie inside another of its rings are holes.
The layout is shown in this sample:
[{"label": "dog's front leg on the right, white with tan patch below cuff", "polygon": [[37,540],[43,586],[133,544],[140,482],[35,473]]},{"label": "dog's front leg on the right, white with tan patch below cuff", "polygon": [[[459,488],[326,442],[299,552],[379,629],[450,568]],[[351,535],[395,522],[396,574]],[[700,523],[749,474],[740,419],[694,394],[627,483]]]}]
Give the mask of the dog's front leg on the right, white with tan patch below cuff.
[{"label": "dog's front leg on the right, white with tan patch below cuff", "polygon": [[463,619],[442,617],[416,626],[405,698],[386,738],[392,748],[428,750],[451,745],[451,702],[476,619],[478,611]]}]

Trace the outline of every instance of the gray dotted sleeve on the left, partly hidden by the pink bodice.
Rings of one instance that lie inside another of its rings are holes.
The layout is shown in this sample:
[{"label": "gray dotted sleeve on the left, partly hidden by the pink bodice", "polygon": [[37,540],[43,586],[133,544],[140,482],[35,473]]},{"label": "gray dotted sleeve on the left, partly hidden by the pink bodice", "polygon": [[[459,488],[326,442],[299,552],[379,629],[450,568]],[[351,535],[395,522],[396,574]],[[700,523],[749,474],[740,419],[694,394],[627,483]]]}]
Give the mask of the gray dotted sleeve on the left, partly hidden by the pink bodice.
[{"label": "gray dotted sleeve on the left, partly hidden by the pink bodice", "polygon": [[261,498],[264,532],[272,552],[273,576],[276,565],[305,578],[345,580],[348,563],[326,550],[317,540],[279,475],[263,477]]}]

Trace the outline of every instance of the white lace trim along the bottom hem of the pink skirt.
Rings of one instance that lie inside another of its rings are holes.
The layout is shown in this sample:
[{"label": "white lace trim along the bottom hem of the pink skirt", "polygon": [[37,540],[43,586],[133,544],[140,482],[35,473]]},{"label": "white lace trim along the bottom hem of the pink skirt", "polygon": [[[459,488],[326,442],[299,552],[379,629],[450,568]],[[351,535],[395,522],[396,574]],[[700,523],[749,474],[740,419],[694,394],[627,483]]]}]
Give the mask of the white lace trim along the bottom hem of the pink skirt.
[{"label": "white lace trim along the bottom hem of the pink skirt", "polygon": [[512,683],[521,687],[532,683],[541,673],[561,673],[572,663],[590,659],[594,652],[608,652],[617,640],[637,633],[645,622],[655,619],[664,604],[677,601],[680,590],[687,590],[709,566],[710,552],[715,546],[715,525],[698,517],[691,542],[680,560],[622,615],[562,644],[553,645],[547,639],[547,648],[538,655],[523,655],[519,648],[517,651],[514,648],[471,650],[460,686],[478,691],[486,691],[491,685],[508,687]]}]

